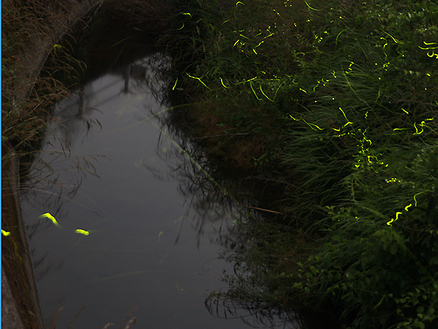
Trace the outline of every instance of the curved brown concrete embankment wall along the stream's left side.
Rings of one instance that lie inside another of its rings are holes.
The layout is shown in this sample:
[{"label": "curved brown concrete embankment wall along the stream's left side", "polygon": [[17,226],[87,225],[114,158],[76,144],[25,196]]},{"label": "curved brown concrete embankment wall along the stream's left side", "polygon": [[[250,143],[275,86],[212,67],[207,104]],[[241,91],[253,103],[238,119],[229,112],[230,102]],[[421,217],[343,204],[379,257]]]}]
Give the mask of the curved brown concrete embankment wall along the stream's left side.
[{"label": "curved brown concrete embankment wall along the stream's left side", "polygon": [[[38,5],[47,3],[47,18],[42,20],[42,24],[47,24],[50,29],[49,33],[43,35],[35,32],[33,44],[23,53],[17,54],[19,69],[14,82],[14,99],[17,103],[31,94],[31,88],[53,45],[68,33],[79,19],[89,19],[105,0],[64,0],[62,8],[51,8],[51,1],[34,1],[38,2]],[[2,236],[1,241],[1,326],[14,329],[43,329],[44,321],[38,304],[34,271],[21,216],[18,168],[19,160],[12,151],[12,145],[3,143],[1,226],[2,229],[8,228],[9,235]]]}]

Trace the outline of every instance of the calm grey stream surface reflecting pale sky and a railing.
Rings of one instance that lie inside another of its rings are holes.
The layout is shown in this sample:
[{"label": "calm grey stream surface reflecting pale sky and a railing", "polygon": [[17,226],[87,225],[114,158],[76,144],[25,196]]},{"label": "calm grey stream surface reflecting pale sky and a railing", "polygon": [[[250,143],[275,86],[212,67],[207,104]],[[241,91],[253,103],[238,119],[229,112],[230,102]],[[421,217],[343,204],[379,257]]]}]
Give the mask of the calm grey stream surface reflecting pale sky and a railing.
[{"label": "calm grey stream surface reflecting pale sky and a railing", "polygon": [[[242,203],[165,124],[168,59],[149,54],[88,81],[55,109],[25,185],[23,216],[40,305],[57,328],[246,328],[211,316],[227,289],[221,245],[241,243]],[[153,87],[153,88],[152,88]],[[55,221],[49,216],[53,215]],[[268,326],[261,326],[268,328]]]}]

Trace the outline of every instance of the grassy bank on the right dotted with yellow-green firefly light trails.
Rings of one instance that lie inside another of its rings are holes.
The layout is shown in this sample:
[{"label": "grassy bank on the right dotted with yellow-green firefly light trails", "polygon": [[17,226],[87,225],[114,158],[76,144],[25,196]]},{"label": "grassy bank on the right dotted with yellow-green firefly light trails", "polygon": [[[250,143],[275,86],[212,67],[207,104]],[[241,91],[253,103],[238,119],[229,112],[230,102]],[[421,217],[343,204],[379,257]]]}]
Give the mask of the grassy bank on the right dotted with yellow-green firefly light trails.
[{"label": "grassy bank on the right dotted with yellow-green firefly light trails", "polygon": [[437,22],[426,0],[181,1],[166,42],[189,122],[284,214],[253,227],[253,275],[222,297],[435,328]]}]

